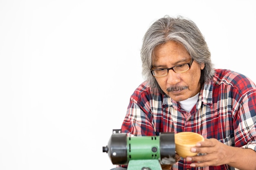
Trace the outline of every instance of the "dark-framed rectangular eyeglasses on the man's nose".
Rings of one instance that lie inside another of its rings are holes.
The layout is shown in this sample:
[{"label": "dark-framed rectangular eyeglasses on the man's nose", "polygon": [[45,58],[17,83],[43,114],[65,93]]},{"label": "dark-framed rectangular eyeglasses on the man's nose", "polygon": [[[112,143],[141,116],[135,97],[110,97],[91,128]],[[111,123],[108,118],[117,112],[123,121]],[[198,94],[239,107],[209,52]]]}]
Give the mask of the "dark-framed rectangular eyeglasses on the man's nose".
[{"label": "dark-framed rectangular eyeglasses on the man's nose", "polygon": [[154,70],[150,70],[150,72],[154,77],[164,77],[168,74],[169,70],[173,70],[175,73],[183,73],[185,71],[188,71],[191,68],[193,61],[194,60],[191,59],[191,61],[186,64],[179,64],[179,65],[173,66],[171,68],[157,68]]}]

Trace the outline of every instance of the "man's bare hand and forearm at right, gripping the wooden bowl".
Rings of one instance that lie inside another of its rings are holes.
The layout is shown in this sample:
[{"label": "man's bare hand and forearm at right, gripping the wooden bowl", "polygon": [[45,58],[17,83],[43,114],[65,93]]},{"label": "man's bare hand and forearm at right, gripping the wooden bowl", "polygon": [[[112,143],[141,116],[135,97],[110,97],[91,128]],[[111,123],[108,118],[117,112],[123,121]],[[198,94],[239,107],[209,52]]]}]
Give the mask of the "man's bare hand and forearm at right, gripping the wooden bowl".
[{"label": "man's bare hand and forearm at right, gripping the wooden bowl", "polygon": [[255,170],[256,152],[249,148],[227,146],[217,139],[205,139],[191,148],[191,152],[199,152],[205,155],[186,157],[186,161],[192,161],[191,167],[220,166],[228,164],[240,170]]}]

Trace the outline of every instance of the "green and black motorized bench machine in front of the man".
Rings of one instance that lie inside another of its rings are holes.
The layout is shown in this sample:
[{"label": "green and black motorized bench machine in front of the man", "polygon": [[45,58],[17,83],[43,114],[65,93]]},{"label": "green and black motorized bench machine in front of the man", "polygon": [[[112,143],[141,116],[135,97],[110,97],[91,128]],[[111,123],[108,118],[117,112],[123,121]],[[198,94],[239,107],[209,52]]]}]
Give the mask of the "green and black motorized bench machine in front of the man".
[{"label": "green and black motorized bench machine in front of the man", "polygon": [[113,133],[103,152],[108,153],[114,165],[128,165],[128,170],[162,170],[161,164],[176,162],[174,136],[174,132],[136,137]]}]

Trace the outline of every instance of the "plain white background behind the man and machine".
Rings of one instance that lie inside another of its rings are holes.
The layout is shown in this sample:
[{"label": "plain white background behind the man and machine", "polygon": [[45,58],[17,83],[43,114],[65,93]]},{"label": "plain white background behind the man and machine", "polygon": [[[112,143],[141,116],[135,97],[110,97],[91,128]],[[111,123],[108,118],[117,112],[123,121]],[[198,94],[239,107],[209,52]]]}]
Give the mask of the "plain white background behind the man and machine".
[{"label": "plain white background behind the man and machine", "polygon": [[144,33],[200,28],[216,68],[256,82],[254,0],[0,0],[0,170],[109,170],[102,147],[143,81]]}]

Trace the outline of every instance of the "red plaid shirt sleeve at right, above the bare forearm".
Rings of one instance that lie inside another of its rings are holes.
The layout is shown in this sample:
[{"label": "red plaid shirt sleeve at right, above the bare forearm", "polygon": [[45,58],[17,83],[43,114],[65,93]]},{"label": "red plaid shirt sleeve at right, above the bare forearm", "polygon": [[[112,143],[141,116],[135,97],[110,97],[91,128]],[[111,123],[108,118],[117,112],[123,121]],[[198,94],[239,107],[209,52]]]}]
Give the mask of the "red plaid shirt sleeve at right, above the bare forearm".
[{"label": "red plaid shirt sleeve at right, above the bare forearm", "polygon": [[247,78],[237,81],[237,86],[241,98],[234,102],[238,105],[233,121],[235,146],[256,151],[256,88]]}]

